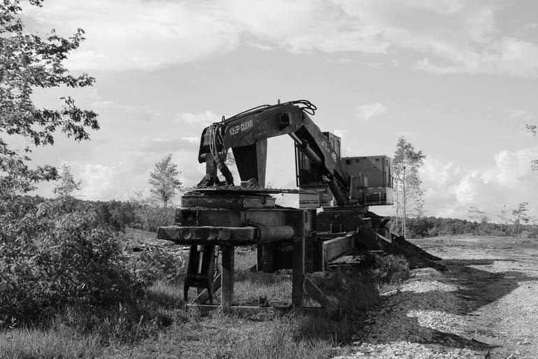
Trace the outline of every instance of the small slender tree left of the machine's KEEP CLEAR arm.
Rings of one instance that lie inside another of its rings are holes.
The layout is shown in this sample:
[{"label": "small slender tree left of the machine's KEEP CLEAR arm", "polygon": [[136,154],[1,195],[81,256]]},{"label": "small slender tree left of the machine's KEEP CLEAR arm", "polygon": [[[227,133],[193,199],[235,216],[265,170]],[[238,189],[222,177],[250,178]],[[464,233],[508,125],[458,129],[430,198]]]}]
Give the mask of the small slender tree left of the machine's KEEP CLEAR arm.
[{"label": "small slender tree left of the machine's KEEP CLEAR arm", "polygon": [[175,196],[176,190],[181,190],[182,183],[177,178],[180,172],[177,171],[177,164],[171,162],[172,155],[164,157],[161,162],[155,164],[154,171],[150,174],[150,185],[152,185],[152,195],[163,202],[166,206],[170,199]]}]

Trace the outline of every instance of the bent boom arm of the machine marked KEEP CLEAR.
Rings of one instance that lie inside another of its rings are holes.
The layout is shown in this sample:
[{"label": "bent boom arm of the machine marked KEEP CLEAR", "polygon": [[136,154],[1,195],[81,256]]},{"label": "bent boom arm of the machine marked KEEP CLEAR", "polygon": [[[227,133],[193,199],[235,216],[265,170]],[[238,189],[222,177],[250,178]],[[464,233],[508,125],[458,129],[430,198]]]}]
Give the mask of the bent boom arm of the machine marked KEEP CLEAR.
[{"label": "bent boom arm of the machine marked KEEP CLEAR", "polygon": [[198,160],[208,162],[232,149],[242,181],[254,178],[265,185],[267,139],[288,134],[312,164],[321,169],[338,205],[344,205],[349,175],[340,157],[307,113],[315,106],[305,100],[260,106],[216,122],[202,133]]}]

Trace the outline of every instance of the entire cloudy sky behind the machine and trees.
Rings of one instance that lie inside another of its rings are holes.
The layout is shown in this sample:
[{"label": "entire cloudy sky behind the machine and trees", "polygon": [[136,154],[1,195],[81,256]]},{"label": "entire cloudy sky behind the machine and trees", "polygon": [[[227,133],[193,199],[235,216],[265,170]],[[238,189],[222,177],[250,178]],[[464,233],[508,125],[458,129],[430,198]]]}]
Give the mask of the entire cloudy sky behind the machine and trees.
[{"label": "entire cloudy sky behind the machine and trees", "polygon": [[[96,77],[73,97],[99,112],[101,130],[34,161],[71,165],[85,198],[128,199],[172,153],[191,186],[203,127],[308,99],[344,155],[392,155],[400,136],[423,150],[428,215],[477,206],[495,218],[526,201],[538,216],[538,138],[525,129],[538,122],[537,13],[533,0],[46,0],[24,22],[85,29],[68,67]],[[62,94],[37,91],[36,103]],[[291,139],[269,146],[268,179],[293,188]]]}]

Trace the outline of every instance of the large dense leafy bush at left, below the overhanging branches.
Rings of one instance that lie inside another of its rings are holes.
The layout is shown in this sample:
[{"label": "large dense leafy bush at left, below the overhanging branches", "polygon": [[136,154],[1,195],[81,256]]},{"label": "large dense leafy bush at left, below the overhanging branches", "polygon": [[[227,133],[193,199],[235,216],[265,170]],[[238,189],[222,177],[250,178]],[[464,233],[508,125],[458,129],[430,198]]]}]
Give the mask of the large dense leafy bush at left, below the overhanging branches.
[{"label": "large dense leafy bush at left, below the overhanging branches", "polygon": [[117,234],[75,200],[2,202],[0,324],[36,321],[66,305],[109,305],[138,288]]}]

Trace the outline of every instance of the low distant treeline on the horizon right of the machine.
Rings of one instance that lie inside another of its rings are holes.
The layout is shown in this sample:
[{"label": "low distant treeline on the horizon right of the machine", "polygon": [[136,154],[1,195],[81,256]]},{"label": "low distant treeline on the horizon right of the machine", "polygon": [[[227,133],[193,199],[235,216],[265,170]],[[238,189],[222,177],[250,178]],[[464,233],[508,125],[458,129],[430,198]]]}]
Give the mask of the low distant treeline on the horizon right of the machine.
[{"label": "low distant treeline on the horizon right of the machine", "polygon": [[[393,218],[393,222],[394,218]],[[458,218],[419,217],[407,218],[407,237],[426,238],[457,234],[477,236],[523,236],[538,237],[535,225],[523,225],[515,221],[509,224],[477,222]]]}]

